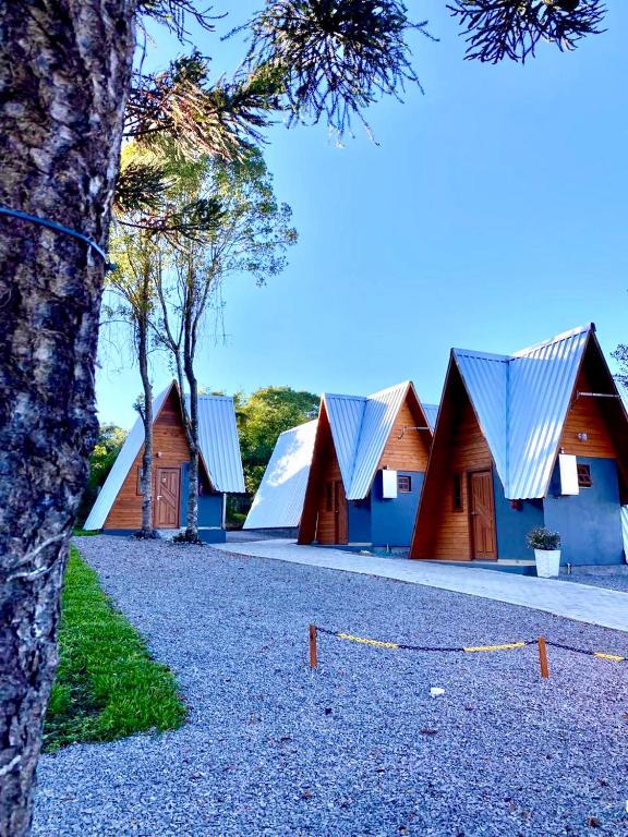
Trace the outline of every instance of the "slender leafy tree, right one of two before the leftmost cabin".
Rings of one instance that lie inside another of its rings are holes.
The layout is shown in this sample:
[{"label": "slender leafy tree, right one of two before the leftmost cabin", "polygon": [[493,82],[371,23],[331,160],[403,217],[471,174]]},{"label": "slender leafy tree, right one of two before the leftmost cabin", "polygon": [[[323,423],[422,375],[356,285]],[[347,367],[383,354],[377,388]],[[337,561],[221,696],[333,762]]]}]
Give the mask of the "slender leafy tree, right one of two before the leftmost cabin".
[{"label": "slender leafy tree, right one of two before the leftmost cabin", "polygon": [[178,236],[161,245],[157,272],[160,317],[157,341],[172,357],[181,392],[185,392],[184,426],[190,448],[185,539],[198,539],[198,383],[195,360],[206,315],[222,282],[252,274],[258,284],[285,266],[283,253],[295,243],[291,210],[275,199],[262,155],[251,149],[242,159],[222,162],[203,158],[185,183],[184,199],[210,195],[219,210],[215,226],[192,238]]}]

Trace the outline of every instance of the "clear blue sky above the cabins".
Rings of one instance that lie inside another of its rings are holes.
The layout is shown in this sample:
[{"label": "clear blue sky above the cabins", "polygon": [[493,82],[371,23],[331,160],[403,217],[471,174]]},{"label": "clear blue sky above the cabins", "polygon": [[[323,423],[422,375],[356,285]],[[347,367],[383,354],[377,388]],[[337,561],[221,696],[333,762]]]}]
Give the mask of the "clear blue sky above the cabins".
[{"label": "clear blue sky above the cabins", "polygon": [[[378,145],[358,124],[341,148],[323,125],[268,132],[300,240],[266,287],[225,288],[228,339],[208,329],[202,386],[365,395],[411,378],[435,402],[451,347],[508,353],[589,320],[607,354],[628,341],[628,4],[575,52],[542,45],[524,66],[492,66],[463,61],[443,0],[407,2],[440,41],[414,41],[424,96],[369,112]],[[240,0],[220,33],[258,5]],[[153,36],[148,65],[181,51]],[[242,54],[197,43],[217,73]],[[105,342],[100,363],[100,421],[130,426],[137,368]],[[166,357],[153,377],[169,380]]]}]

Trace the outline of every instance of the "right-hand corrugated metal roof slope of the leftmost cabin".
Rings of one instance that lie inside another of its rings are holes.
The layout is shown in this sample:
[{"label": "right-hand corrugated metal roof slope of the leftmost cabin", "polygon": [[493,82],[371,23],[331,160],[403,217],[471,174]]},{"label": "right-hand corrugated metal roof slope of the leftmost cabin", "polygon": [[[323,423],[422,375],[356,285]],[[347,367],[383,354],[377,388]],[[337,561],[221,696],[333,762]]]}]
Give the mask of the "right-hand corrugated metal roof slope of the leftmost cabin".
[{"label": "right-hand corrugated metal roof slope of the leftmost cabin", "polygon": [[[189,399],[185,396],[186,402]],[[246,489],[232,398],[198,397],[198,440],[214,488],[226,494],[243,494]]]}]

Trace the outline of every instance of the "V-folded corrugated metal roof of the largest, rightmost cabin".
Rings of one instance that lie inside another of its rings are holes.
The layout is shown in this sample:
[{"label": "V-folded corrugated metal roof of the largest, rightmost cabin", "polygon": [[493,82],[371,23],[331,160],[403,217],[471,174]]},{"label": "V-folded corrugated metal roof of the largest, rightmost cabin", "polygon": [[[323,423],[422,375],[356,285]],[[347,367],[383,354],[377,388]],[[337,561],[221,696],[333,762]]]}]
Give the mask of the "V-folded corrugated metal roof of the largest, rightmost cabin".
[{"label": "V-folded corrugated metal roof of the largest, rightmost cabin", "polygon": [[589,323],[514,355],[454,350],[508,499],[544,497]]}]

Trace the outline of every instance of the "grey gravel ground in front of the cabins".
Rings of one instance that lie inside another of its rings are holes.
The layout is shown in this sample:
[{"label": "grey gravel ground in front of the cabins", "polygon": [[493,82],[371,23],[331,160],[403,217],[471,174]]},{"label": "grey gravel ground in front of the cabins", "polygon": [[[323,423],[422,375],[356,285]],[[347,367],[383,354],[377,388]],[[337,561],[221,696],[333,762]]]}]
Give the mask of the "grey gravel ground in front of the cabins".
[{"label": "grey gravel ground in front of the cabins", "polygon": [[[176,670],[184,728],[41,760],[34,834],[62,837],[628,835],[628,664],[535,647],[418,654],[307,623],[435,645],[627,635],[432,587],[221,554],[78,541]],[[433,686],[445,689],[431,698]]]}]

